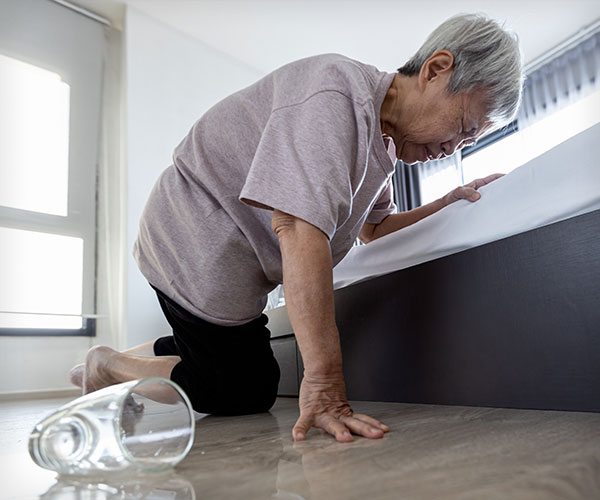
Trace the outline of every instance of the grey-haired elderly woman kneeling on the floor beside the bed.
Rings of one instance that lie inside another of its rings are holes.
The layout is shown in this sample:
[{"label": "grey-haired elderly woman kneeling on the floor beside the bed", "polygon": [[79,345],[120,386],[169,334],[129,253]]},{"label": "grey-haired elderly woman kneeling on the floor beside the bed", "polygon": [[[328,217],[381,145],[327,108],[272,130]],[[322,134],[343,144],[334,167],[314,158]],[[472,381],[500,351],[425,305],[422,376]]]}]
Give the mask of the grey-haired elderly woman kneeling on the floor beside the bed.
[{"label": "grey-haired elderly woman kneeling on the floor beside the bed", "polygon": [[[92,348],[72,381],[90,392],[144,376],[177,382],[203,413],[269,410],[279,368],[263,313],[283,283],[304,360],[300,417],[338,441],[388,428],[345,395],[332,267],[477,188],[396,213],[395,159],[452,155],[519,105],[516,38],[483,16],[451,18],[396,74],[335,54],[288,64],[210,109],[158,179],[134,248],[173,335],[124,353]],[[398,249],[402,251],[401,248]]]}]

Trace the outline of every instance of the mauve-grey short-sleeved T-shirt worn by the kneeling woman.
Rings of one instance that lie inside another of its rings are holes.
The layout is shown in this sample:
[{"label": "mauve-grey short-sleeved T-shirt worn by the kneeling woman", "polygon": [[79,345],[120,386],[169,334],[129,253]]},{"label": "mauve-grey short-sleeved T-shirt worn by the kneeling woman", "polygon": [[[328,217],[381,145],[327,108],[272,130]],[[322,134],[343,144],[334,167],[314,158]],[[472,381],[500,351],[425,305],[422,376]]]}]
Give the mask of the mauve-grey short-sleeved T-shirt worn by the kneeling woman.
[{"label": "mauve-grey short-sleeved T-shirt worn by the kneeling woman", "polygon": [[396,211],[380,109],[394,75],[337,54],[293,62],[208,110],[140,221],[148,281],[220,325],[257,318],[282,282],[276,208],[329,238],[333,264]]}]

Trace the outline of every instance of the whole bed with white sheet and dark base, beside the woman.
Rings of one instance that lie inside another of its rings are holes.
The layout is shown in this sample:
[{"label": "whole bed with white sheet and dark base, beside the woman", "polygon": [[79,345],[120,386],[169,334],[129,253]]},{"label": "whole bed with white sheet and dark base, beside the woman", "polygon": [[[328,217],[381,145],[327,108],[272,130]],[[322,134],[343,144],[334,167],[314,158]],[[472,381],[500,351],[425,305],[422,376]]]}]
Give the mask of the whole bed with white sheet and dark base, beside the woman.
[{"label": "whole bed with white sheet and dark base, beside the woman", "polygon": [[[599,141],[597,125],[336,266],[350,399],[600,411]],[[269,316],[297,394],[285,308]]]}]

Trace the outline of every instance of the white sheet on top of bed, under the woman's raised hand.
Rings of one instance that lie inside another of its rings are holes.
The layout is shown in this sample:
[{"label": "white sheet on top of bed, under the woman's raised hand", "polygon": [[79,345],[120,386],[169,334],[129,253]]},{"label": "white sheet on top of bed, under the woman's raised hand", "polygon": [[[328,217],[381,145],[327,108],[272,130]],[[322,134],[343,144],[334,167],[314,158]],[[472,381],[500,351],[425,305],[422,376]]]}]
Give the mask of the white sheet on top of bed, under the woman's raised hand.
[{"label": "white sheet on top of bed, under the woman's raised hand", "polygon": [[[600,209],[600,124],[407,228],[352,248],[334,288]],[[600,231],[600,228],[598,228]]]}]

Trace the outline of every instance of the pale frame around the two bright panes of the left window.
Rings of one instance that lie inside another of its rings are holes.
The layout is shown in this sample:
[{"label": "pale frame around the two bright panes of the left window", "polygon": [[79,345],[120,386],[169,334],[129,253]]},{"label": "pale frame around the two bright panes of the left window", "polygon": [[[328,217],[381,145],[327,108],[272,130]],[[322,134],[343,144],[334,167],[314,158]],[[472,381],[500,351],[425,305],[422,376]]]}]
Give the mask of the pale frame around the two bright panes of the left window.
[{"label": "pale frame around the two bright panes of the left window", "polygon": [[59,74],[70,86],[70,116],[67,215],[0,206],[0,226],[81,238],[83,277],[82,328],[0,327],[0,336],[96,334],[97,176],[105,45],[104,26],[57,3],[3,3],[0,53]]}]

